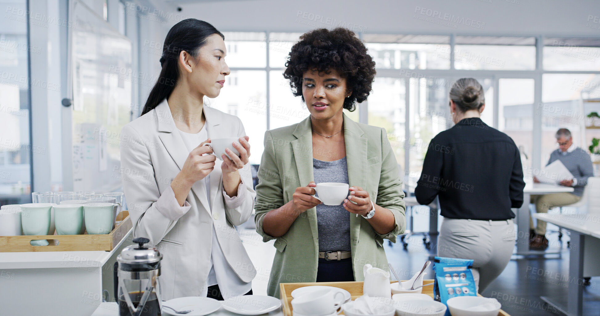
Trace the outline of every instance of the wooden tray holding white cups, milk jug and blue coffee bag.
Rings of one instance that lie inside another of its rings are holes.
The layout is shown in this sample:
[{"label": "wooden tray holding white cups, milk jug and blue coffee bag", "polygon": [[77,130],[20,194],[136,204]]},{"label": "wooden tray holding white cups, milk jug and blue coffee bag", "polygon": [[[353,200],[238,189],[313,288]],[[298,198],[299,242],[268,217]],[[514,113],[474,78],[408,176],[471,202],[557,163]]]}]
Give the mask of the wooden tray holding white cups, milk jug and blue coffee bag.
[{"label": "wooden tray holding white cups, milk jug and blue coffee bag", "polygon": [[[390,283],[395,283],[398,281],[391,281]],[[433,283],[433,280],[423,280],[424,284]],[[281,299],[281,309],[283,310],[283,314],[286,316],[292,316],[292,291],[296,290],[296,288],[300,287],[309,287],[311,285],[325,285],[329,287],[338,287],[343,288],[346,291],[350,292],[350,296],[352,296],[352,300],[355,300],[357,297],[362,296],[362,282],[311,282],[311,283],[280,283],[279,291],[280,291],[280,299]],[[423,294],[427,294],[428,296],[433,297],[433,284],[427,285],[423,287]],[[478,296],[481,296],[477,294]],[[343,315],[344,312],[341,312],[340,315]],[[498,316],[510,316],[506,314],[505,311],[500,309]]]}]

